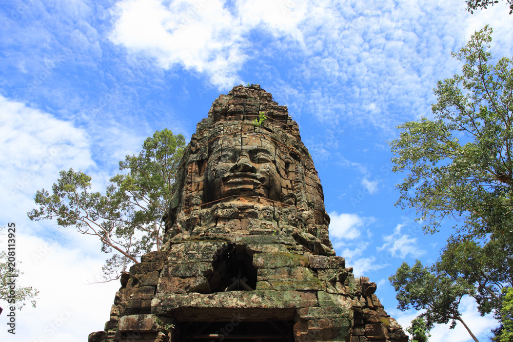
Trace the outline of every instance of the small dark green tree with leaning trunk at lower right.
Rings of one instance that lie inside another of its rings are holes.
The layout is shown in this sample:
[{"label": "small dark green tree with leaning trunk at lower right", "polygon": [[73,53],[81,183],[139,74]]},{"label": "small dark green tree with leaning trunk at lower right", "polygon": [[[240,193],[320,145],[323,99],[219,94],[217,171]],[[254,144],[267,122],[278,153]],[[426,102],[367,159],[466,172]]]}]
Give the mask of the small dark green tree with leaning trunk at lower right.
[{"label": "small dark green tree with leaning trunk at lower right", "polygon": [[459,310],[461,298],[472,294],[473,290],[465,282],[449,278],[436,266],[424,267],[419,260],[412,267],[403,262],[388,279],[397,292],[398,309],[425,310],[421,316],[428,330],[435,323],[447,324],[449,320],[450,329],[453,329],[460,321],[473,340],[478,341],[461,318]]}]

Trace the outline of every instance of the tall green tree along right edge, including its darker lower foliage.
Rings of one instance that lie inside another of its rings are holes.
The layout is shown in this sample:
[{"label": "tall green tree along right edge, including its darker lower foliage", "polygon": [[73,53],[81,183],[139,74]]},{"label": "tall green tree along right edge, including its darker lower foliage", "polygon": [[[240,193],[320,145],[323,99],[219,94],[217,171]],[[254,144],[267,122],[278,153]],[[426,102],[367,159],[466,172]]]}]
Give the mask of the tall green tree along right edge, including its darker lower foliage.
[{"label": "tall green tree along right edge, including its darker lower foliage", "polygon": [[507,57],[492,64],[491,33],[452,54],[463,73],[438,82],[434,118],[398,126],[390,146],[393,171],[406,171],[396,205],[415,209],[425,232],[454,223],[437,274],[502,320],[502,289],[513,285],[513,68]]}]

